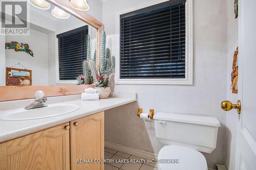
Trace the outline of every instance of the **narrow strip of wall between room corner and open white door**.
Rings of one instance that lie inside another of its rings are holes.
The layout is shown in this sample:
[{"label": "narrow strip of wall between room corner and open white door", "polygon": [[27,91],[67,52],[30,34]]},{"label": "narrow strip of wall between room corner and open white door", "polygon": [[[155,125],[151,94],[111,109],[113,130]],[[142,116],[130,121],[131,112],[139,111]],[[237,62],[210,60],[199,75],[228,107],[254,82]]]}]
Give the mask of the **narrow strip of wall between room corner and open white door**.
[{"label": "narrow strip of wall between room corner and open white door", "polygon": [[[233,63],[233,54],[238,46],[238,19],[234,19],[233,0],[228,0],[227,3],[227,100],[232,103],[236,103],[238,95],[231,92],[231,72]],[[236,152],[236,130],[237,130],[237,118],[238,114],[236,110],[230,110],[226,112],[226,145],[227,145],[227,160],[226,166],[229,170],[234,169],[234,159]]]}]

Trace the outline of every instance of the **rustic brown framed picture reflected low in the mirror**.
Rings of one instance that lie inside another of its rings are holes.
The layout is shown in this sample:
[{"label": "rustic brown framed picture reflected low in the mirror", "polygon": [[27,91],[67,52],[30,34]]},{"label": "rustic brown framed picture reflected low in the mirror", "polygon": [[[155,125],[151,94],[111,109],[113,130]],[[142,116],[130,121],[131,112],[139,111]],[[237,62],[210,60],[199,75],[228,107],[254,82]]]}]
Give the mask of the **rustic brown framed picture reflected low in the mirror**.
[{"label": "rustic brown framed picture reflected low in the mirror", "polygon": [[7,86],[31,86],[32,70],[6,67]]}]

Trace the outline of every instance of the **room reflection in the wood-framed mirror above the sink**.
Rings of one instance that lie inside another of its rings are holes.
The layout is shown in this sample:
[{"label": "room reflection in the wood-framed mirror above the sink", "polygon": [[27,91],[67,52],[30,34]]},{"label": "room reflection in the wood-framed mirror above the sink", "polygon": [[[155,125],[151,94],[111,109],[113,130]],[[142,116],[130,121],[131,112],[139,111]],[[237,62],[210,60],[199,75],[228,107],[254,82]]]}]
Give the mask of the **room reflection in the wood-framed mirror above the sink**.
[{"label": "room reflection in the wood-framed mirror above the sink", "polygon": [[92,56],[96,50],[97,30],[52,4],[47,10],[29,5],[29,10],[29,35],[1,36],[6,50],[1,46],[5,64],[0,67],[6,72],[1,71],[0,85],[78,84],[88,49]]}]

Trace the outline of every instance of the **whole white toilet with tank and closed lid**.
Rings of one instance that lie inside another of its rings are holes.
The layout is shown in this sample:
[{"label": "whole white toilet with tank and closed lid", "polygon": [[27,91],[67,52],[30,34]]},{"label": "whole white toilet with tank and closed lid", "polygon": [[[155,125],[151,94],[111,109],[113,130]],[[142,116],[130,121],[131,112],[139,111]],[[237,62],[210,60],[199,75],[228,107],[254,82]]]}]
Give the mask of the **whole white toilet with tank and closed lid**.
[{"label": "whole white toilet with tank and closed lid", "polygon": [[208,169],[201,152],[211,153],[216,148],[221,126],[216,117],[159,112],[154,120],[156,137],[165,144],[158,153],[159,170]]}]

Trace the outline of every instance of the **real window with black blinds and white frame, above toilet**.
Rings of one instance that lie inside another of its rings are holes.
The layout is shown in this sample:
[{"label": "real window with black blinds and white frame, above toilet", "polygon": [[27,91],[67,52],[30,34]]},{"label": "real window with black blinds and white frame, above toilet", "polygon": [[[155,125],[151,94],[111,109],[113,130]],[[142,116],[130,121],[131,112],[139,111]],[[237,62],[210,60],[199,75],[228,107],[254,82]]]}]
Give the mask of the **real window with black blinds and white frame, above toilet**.
[{"label": "real window with black blinds and white frame, above toilet", "polygon": [[192,58],[187,55],[191,39],[187,38],[186,10],[185,0],[171,0],[120,12],[117,84],[191,84],[192,71],[188,68],[191,69]]}]

